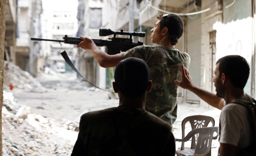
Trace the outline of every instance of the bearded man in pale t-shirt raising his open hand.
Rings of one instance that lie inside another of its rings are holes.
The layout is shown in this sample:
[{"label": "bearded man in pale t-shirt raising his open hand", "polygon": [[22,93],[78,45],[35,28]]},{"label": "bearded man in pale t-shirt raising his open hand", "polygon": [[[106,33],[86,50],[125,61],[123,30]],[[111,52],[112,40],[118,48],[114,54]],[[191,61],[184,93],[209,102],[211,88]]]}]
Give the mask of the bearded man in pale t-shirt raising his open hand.
[{"label": "bearded man in pale t-shirt raising his open hand", "polygon": [[230,55],[220,58],[216,63],[213,78],[216,95],[195,86],[184,65],[181,81],[175,80],[175,83],[182,88],[192,91],[209,105],[221,109],[219,156],[245,156],[255,151],[253,124],[251,124],[253,116],[250,116],[247,107],[237,103],[241,100],[254,102],[251,96],[244,93],[249,72],[249,65],[242,56]]}]

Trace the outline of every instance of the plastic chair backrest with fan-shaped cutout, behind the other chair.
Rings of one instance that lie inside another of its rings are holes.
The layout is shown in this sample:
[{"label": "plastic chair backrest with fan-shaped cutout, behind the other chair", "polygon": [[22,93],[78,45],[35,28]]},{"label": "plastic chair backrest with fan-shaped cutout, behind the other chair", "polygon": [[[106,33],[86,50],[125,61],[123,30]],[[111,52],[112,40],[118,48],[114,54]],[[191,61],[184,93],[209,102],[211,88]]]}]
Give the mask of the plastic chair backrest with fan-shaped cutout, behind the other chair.
[{"label": "plastic chair backrest with fan-shaped cutout, behind the other chair", "polygon": [[[185,137],[185,124],[187,122],[190,122],[191,130],[194,130],[196,128],[202,128],[207,127],[209,123],[211,122],[212,126],[215,125],[215,120],[211,116],[205,116],[205,115],[192,115],[187,116],[185,119],[183,119],[181,123],[181,130],[182,130],[182,138]],[[191,149],[194,149],[196,147],[196,141],[197,136],[193,136],[191,140]],[[181,150],[184,150],[184,142],[181,143]]]}]

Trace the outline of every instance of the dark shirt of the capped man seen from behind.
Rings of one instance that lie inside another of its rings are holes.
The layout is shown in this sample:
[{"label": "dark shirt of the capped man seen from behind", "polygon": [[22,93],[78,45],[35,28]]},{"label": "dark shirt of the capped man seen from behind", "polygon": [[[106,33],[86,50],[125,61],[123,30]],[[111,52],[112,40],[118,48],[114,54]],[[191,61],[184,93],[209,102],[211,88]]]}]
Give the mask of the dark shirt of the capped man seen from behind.
[{"label": "dark shirt of the capped man seen from behind", "polygon": [[134,107],[83,114],[71,156],[174,156],[171,126]]}]

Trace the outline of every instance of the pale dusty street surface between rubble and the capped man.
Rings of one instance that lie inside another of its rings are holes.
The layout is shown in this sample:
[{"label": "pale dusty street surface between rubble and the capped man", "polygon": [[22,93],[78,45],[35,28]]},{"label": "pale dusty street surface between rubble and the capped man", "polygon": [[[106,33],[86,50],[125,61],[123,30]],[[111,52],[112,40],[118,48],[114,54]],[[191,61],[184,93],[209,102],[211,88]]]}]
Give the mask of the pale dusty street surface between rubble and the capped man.
[{"label": "pale dusty street surface between rubble and the capped man", "polygon": [[117,99],[109,99],[109,93],[88,83],[76,79],[75,73],[42,75],[38,81],[46,88],[46,92],[26,93],[13,90],[14,97],[20,104],[27,105],[36,114],[56,119],[57,121],[77,121],[81,114],[118,105]]}]

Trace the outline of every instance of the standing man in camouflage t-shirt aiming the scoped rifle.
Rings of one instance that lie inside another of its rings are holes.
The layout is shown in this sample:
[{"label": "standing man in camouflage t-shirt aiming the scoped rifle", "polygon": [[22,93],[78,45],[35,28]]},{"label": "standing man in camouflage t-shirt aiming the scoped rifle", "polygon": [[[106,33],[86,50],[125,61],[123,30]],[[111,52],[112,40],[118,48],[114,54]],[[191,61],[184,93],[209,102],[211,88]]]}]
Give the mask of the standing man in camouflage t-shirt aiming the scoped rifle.
[{"label": "standing man in camouflage t-shirt aiming the scoped rifle", "polygon": [[175,49],[175,44],[183,34],[183,22],[175,14],[157,16],[154,28],[151,30],[152,43],[157,46],[137,46],[126,52],[109,55],[101,51],[92,39],[81,36],[77,47],[92,50],[92,54],[104,68],[116,67],[123,59],[129,57],[144,60],[153,82],[152,91],[146,99],[146,110],[173,125],[177,118],[178,85],[175,79],[181,77],[181,65],[188,67],[190,56]]}]

